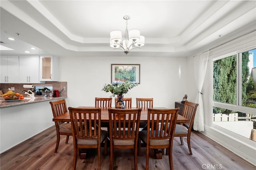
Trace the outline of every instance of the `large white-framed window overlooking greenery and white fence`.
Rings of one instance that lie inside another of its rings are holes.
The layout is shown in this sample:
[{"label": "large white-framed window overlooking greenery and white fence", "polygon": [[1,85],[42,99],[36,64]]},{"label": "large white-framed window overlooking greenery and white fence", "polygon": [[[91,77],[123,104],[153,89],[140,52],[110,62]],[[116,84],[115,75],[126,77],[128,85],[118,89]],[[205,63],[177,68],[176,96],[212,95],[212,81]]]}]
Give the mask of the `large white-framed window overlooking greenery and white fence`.
[{"label": "large white-framed window overlooking greenery and white fence", "polygon": [[256,129],[256,49],[213,62],[213,124],[252,138]]}]

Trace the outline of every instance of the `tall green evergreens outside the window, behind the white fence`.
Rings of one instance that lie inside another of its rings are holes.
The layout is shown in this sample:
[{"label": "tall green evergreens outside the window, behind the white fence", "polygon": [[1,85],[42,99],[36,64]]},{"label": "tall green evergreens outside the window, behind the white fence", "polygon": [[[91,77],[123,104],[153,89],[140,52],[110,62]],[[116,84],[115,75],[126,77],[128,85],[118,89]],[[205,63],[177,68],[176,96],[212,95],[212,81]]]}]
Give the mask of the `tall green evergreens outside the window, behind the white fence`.
[{"label": "tall green evergreens outside the window, behind the white fence", "polygon": [[[242,103],[247,101],[246,90],[249,77],[249,51],[242,53]],[[221,103],[236,104],[236,55],[214,61],[213,63],[213,100]],[[214,113],[232,113],[222,108],[213,109]]]}]

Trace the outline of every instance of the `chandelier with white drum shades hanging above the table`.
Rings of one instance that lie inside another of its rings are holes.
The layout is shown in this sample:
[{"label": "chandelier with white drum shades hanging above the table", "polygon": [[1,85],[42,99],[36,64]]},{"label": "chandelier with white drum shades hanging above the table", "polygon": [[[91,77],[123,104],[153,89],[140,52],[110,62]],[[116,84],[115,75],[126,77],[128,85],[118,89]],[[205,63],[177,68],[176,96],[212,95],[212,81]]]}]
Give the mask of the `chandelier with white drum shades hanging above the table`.
[{"label": "chandelier with white drum shades hanging above the table", "polygon": [[[124,33],[124,41],[122,45],[120,42],[122,41],[122,32],[119,30],[114,30],[110,32],[110,47],[114,49],[122,49],[124,53],[129,53],[134,48],[141,48],[144,45],[145,37],[140,36],[140,30],[127,29],[128,20],[130,20],[130,16],[124,16],[124,20],[126,20],[126,29]],[[134,45],[135,47],[133,47]]]}]

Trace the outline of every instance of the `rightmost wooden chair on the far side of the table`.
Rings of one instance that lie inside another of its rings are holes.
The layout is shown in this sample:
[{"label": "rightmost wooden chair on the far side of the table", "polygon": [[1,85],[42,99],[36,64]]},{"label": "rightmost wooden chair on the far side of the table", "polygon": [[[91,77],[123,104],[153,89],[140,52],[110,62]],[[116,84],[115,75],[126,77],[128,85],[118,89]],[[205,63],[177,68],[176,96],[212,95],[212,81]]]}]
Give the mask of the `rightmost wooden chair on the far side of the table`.
[{"label": "rightmost wooden chair on the far side of the table", "polygon": [[[136,98],[136,108],[153,108],[153,98]],[[147,129],[147,123],[140,123],[141,130]]]}]

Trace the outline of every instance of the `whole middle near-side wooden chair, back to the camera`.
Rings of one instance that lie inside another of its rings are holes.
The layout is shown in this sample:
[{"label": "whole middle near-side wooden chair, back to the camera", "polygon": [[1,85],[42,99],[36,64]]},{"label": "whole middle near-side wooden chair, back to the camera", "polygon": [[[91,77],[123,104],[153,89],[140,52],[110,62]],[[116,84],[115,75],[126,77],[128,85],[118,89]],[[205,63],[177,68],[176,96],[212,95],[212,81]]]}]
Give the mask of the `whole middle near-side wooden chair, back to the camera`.
[{"label": "whole middle near-side wooden chair, back to the camera", "polygon": [[138,132],[141,109],[108,109],[110,136],[110,165],[114,149],[134,149],[134,169],[137,170]]}]

